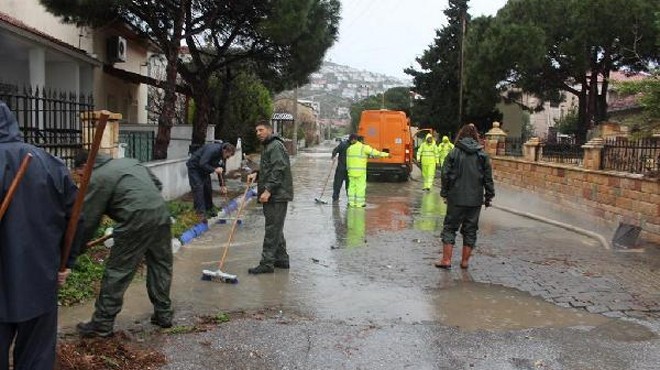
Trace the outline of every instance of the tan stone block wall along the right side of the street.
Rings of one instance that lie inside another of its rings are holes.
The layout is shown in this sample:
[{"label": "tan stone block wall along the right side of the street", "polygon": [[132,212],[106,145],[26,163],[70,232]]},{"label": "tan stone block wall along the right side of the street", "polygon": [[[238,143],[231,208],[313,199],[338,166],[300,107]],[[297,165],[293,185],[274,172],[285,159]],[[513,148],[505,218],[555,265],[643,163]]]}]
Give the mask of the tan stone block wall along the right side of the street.
[{"label": "tan stone block wall along the right side of the street", "polygon": [[660,181],[556,163],[492,157],[495,180],[544,196],[610,223],[641,226],[660,243]]}]

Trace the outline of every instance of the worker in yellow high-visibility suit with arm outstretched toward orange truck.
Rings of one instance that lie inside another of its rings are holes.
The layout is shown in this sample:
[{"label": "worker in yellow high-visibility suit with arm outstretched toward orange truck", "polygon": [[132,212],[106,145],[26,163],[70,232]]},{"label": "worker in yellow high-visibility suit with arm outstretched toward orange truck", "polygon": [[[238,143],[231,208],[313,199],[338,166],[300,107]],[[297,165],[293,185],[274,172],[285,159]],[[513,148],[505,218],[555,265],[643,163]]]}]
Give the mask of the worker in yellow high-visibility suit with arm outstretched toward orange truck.
[{"label": "worker in yellow high-visibility suit with arm outstretched toward orange truck", "polygon": [[358,135],[351,134],[351,145],[346,150],[348,170],[348,206],[366,207],[367,203],[367,159],[369,157],[388,158],[390,153],[380,152],[358,141]]}]

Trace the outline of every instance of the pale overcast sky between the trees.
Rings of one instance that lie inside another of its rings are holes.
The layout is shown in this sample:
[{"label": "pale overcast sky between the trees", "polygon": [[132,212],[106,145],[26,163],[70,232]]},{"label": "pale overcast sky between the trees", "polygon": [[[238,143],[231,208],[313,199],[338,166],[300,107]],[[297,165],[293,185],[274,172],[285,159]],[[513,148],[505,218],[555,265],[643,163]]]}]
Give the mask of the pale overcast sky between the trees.
[{"label": "pale overcast sky between the trees", "polygon": [[[343,0],[339,39],[326,59],[371,72],[410,78],[414,65],[447,24],[447,0]],[[506,0],[471,0],[473,16],[495,15]]]}]

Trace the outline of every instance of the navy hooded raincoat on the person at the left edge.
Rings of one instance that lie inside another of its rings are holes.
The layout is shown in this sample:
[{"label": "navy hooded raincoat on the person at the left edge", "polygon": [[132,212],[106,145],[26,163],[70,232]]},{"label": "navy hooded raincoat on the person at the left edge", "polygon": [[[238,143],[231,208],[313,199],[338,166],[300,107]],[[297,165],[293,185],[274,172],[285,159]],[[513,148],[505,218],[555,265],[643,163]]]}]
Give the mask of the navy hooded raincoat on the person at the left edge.
[{"label": "navy hooded raincoat on the person at the left edge", "polygon": [[[78,188],[64,162],[23,142],[0,102],[0,195],[23,158],[32,161],[0,221],[0,322],[20,322],[57,308],[57,270]],[[78,243],[72,252],[78,249]]]}]

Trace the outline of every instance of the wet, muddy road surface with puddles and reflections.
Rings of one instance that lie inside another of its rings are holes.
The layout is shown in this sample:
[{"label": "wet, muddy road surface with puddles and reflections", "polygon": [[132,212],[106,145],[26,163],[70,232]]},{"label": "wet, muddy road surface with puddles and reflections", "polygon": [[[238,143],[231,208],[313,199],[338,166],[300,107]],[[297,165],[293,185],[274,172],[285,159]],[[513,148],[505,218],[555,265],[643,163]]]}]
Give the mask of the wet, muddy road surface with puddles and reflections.
[{"label": "wet, muddy road surface with puddles and reflections", "polygon": [[[220,312],[232,319],[203,333],[156,337],[169,360],[166,369],[660,368],[656,317],[610,318],[532,296],[522,284],[529,276],[519,272],[529,268],[509,263],[503,252],[514,244],[537,255],[556,246],[601,255],[595,240],[488,209],[471,269],[438,270],[432,262],[445,212],[438,189],[425,193],[416,181],[377,182],[368,185],[366,209],[346,209],[344,194],[339,205],[317,204],[330,149],[294,160],[296,199],[285,227],[291,270],[247,274],[259,261],[263,238],[263,216],[254,202],[223,267],[239,276],[239,284],[200,280],[202,269],[217,267],[227,225],[212,225],[175,255],[177,324]],[[460,250],[454,254],[457,266]],[[573,275],[585,279],[569,269],[555,284],[571,285]],[[649,289],[652,295],[654,286]],[[149,327],[150,310],[138,279],[117,327]],[[63,309],[61,330],[90,312],[91,304]]]}]

